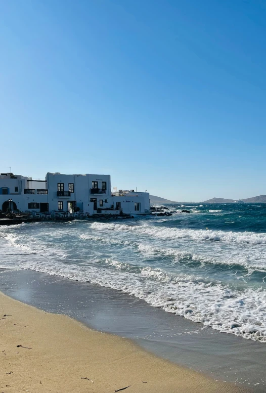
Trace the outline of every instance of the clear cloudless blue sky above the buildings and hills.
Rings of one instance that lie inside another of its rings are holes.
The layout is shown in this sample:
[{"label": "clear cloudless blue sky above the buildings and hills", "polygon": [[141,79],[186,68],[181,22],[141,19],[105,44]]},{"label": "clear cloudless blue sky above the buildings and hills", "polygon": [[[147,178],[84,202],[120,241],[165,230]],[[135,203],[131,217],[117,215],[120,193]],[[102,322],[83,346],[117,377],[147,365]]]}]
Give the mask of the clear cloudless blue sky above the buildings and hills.
[{"label": "clear cloudless blue sky above the buildings and hills", "polygon": [[0,170],[266,194],[264,0],[0,2]]}]

